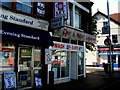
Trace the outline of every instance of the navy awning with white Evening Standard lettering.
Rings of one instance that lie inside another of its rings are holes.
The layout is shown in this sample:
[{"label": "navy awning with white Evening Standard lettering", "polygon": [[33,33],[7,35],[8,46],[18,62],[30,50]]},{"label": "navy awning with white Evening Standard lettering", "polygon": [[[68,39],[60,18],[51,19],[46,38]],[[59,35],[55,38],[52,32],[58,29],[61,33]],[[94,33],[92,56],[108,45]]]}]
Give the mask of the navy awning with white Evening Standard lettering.
[{"label": "navy awning with white Evening Standard lettering", "polygon": [[53,46],[50,33],[43,30],[4,22],[0,34],[2,34],[3,42],[43,46],[45,48]]}]

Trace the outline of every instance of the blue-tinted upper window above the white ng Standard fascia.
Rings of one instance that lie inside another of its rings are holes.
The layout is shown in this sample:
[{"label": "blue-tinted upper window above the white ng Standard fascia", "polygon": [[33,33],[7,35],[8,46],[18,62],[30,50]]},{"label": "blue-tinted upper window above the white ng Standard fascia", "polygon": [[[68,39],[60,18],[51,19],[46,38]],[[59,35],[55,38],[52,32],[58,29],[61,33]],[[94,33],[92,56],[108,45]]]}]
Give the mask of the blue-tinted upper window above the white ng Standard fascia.
[{"label": "blue-tinted upper window above the white ng Standard fascia", "polygon": [[16,9],[27,13],[32,13],[33,2],[32,0],[29,0],[29,2],[23,2],[23,0],[17,0]]}]

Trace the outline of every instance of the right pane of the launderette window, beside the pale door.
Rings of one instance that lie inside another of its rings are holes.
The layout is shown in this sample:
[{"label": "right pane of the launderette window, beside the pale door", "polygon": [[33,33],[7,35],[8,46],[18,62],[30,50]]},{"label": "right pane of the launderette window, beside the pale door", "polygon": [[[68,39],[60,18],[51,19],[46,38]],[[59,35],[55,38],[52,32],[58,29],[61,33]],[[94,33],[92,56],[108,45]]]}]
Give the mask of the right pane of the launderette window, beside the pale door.
[{"label": "right pane of the launderette window, beside the pale door", "polygon": [[69,55],[68,52],[61,52],[61,77],[69,76]]}]

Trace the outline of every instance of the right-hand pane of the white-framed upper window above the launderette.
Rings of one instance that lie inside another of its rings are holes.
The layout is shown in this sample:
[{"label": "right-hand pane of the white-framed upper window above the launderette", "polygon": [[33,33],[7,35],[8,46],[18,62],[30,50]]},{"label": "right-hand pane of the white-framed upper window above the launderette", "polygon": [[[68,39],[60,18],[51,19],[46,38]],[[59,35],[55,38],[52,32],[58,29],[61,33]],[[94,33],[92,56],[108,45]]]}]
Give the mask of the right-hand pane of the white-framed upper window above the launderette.
[{"label": "right-hand pane of the white-framed upper window above the launderette", "polygon": [[78,8],[75,8],[75,28],[81,28],[81,15]]}]

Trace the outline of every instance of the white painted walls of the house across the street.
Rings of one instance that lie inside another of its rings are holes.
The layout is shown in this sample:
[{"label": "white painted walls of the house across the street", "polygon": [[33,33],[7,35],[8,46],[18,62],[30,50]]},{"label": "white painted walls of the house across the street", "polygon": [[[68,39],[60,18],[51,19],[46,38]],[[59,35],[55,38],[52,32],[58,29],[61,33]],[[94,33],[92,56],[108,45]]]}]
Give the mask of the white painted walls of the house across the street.
[{"label": "white painted walls of the house across the street", "polygon": [[[97,16],[98,21],[97,21],[97,31],[99,34],[96,37],[96,45],[104,45],[104,40],[106,39],[106,36],[109,34],[102,34],[102,27],[103,27],[103,21],[108,21],[108,19],[102,15]],[[118,34],[118,43],[120,43],[120,26],[118,26],[116,23],[110,21],[110,30],[111,30],[111,35],[112,34]],[[112,40],[112,36],[111,36]],[[98,63],[107,63],[107,57],[99,57],[100,61],[98,61],[98,54],[97,54],[97,49],[96,51],[89,51],[86,49],[86,65],[93,65],[93,62],[98,62]]]}]

